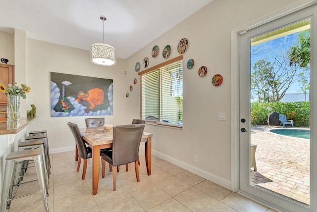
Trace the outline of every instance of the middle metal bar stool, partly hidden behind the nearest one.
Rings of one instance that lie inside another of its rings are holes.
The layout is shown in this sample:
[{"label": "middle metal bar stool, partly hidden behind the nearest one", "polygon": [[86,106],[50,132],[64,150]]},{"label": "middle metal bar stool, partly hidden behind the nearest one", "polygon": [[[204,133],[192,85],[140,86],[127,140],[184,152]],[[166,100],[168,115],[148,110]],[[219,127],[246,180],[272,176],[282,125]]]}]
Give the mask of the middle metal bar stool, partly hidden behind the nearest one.
[{"label": "middle metal bar stool, partly hidden behind the nearest one", "polygon": [[[47,188],[50,188],[50,185],[49,185],[49,178],[50,178],[49,167],[47,166],[48,162],[47,162],[47,158],[46,158],[46,154],[45,154],[45,139],[44,138],[32,139],[32,140],[28,140],[28,141],[21,142],[18,144],[18,151],[29,150],[29,149],[38,149],[38,148],[40,148],[42,150],[42,153],[43,153],[44,170],[46,170],[45,171],[45,178],[46,178],[46,182],[47,182]],[[24,164],[25,165],[23,165],[23,167],[21,169],[21,176],[24,175],[24,172],[25,172],[25,169],[27,167],[28,162],[26,162]]]}]

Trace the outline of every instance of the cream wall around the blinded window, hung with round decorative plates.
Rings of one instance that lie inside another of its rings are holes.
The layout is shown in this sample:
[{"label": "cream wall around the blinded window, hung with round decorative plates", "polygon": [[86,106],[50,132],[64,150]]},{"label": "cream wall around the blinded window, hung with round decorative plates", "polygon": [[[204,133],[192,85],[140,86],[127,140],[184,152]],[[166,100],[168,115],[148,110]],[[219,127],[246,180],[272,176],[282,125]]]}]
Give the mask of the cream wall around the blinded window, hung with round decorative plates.
[{"label": "cream wall around the blinded window, hung with round decorative plates", "polygon": [[[147,125],[146,130],[154,133],[154,154],[230,189],[231,30],[292,2],[295,0],[214,0],[127,59],[128,82],[132,83],[137,77],[136,62],[142,64],[147,56],[152,67],[166,61],[162,57],[166,45],[171,46],[169,58],[174,58],[179,55],[178,42],[182,38],[189,41],[183,54],[184,126],[179,130]],[[159,55],[153,58],[151,50],[155,45],[159,46]],[[195,61],[192,69],[186,67],[189,59]],[[208,73],[200,77],[198,69],[203,65]],[[223,76],[219,87],[211,84],[215,74]],[[127,116],[137,116],[139,90],[131,92],[128,102]],[[225,112],[225,121],[217,120],[218,112]],[[198,156],[197,163],[194,155]]]}]

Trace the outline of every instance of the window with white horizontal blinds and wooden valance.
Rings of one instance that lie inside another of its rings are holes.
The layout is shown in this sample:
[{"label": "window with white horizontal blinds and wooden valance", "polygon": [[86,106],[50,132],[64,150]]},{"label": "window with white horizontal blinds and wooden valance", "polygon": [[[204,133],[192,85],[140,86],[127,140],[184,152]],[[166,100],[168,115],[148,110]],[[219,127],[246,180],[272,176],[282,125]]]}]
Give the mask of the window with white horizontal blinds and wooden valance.
[{"label": "window with white horizontal blinds and wooden valance", "polygon": [[142,119],[183,126],[182,59],[181,55],[139,73]]}]

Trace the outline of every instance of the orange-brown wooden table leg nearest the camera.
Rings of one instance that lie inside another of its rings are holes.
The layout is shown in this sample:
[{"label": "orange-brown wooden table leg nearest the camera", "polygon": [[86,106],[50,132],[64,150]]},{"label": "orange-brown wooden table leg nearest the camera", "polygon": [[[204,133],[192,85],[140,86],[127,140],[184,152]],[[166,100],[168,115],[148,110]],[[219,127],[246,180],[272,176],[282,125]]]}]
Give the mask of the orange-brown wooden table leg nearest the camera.
[{"label": "orange-brown wooden table leg nearest the camera", "polygon": [[100,147],[93,146],[92,148],[92,178],[93,178],[93,195],[97,194],[99,183],[99,168],[100,168]]}]

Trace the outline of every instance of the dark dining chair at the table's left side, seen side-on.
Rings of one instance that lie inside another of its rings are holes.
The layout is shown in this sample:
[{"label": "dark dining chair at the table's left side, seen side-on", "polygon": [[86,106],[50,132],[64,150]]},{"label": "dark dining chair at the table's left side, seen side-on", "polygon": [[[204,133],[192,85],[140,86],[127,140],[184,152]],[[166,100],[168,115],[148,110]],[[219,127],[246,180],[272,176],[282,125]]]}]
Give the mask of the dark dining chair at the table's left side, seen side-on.
[{"label": "dark dining chair at the table's left side, seen side-on", "polygon": [[70,128],[70,131],[72,132],[75,142],[78,149],[78,165],[77,165],[77,172],[80,168],[81,159],[84,159],[84,167],[83,167],[83,174],[81,179],[85,179],[86,170],[87,170],[87,159],[92,157],[92,150],[90,147],[87,147],[83,138],[83,135],[81,134],[78,125],[72,122],[68,122],[67,125]]}]

